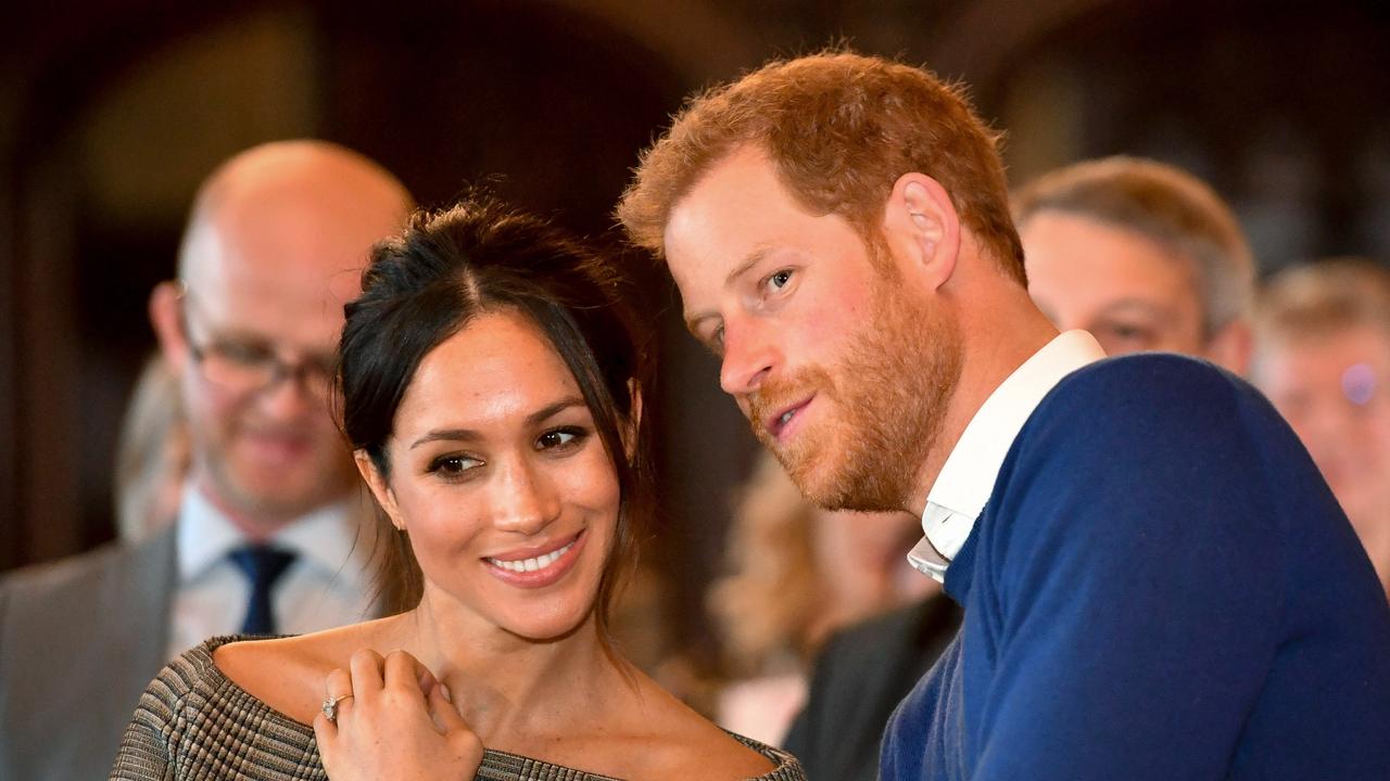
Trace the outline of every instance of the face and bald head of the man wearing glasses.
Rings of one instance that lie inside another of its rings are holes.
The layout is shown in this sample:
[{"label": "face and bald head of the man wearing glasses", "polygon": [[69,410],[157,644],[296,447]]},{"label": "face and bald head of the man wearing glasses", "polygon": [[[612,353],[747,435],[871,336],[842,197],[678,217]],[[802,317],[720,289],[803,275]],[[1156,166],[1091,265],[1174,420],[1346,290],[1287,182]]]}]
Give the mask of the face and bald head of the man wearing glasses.
[{"label": "face and bald head of the man wearing glasses", "polygon": [[[335,365],[343,304],[360,292],[371,246],[399,229],[404,196],[359,161],[307,147],[239,158],[207,193],[185,236],[186,295],[156,289],[152,317],[179,377],[192,478],[240,525],[270,532],[356,484],[324,367]],[[224,357],[317,367],[318,382],[299,371],[249,388],[213,371],[232,365],[206,359],[215,345],[235,346]]]}]

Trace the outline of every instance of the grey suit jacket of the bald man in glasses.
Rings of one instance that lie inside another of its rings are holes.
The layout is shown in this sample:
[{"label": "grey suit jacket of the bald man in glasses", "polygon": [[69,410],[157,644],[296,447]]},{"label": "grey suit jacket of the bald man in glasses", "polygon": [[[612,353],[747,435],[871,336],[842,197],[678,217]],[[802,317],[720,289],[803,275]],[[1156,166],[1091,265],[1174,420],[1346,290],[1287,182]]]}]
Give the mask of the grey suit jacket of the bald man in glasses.
[{"label": "grey suit jacket of the bald man in glasses", "polygon": [[0,778],[106,778],[168,661],[174,527],[0,581]]}]

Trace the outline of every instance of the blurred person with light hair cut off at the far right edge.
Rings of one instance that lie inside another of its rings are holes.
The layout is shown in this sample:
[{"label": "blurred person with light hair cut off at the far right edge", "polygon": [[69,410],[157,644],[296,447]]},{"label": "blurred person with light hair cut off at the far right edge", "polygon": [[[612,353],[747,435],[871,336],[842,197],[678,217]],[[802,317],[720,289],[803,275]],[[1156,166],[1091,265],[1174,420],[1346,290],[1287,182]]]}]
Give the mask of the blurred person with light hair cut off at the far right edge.
[{"label": "blurred person with light hair cut off at the far right edge", "polygon": [[1255,324],[1255,385],[1312,453],[1390,593],[1390,270],[1289,268]]}]

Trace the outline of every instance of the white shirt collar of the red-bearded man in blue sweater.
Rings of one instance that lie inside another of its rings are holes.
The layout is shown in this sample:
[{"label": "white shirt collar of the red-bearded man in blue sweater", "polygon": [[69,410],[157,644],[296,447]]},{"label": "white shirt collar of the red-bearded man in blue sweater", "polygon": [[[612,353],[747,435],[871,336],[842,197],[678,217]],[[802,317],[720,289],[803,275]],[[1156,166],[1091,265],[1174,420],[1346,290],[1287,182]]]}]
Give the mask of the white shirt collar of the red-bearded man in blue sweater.
[{"label": "white shirt collar of the red-bearded man in blue sweater", "polygon": [[1033,353],[990,393],[927,493],[922,514],[926,536],[908,553],[908,561],[917,571],[945,581],[947,567],[994,492],[994,481],[1019,429],[1063,377],[1104,357],[1105,350],[1094,336],[1068,331]]}]

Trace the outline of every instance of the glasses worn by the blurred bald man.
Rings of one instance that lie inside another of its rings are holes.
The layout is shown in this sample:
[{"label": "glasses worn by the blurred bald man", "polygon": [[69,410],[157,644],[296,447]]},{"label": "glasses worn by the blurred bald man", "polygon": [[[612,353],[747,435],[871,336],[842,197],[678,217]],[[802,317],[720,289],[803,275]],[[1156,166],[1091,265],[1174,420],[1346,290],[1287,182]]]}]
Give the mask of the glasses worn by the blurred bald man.
[{"label": "glasses worn by the blurred bald man", "polygon": [[338,371],[335,354],[307,356],[296,361],[279,357],[268,340],[213,334],[199,343],[189,327],[189,303],[193,297],[179,282],[179,317],[189,354],[207,382],[235,395],[270,390],[284,379],[304,390],[327,397]]}]

